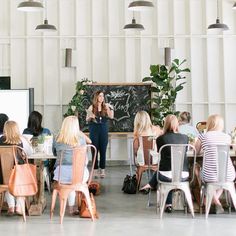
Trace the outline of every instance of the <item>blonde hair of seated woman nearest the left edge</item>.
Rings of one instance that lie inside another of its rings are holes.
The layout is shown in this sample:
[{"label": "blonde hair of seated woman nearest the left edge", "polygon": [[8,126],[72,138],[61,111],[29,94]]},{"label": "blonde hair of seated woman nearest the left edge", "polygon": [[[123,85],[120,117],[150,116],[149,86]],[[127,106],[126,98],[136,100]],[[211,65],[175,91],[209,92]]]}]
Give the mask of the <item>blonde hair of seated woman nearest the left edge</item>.
[{"label": "blonde hair of seated woman nearest the left edge", "polygon": [[20,144],[21,134],[19,130],[19,126],[15,121],[9,120],[6,121],[3,128],[3,134],[5,136],[4,143],[6,144]]}]

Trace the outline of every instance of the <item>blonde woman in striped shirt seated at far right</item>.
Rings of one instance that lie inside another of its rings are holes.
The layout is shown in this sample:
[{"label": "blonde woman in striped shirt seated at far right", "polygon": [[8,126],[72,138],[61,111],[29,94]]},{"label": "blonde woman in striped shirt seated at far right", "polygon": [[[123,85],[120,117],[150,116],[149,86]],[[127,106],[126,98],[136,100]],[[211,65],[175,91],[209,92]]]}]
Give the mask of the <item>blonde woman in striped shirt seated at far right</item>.
[{"label": "blonde woman in striped shirt seated at far right", "polygon": [[[198,153],[201,150],[204,152],[204,162],[201,171],[201,179],[203,182],[215,182],[217,176],[216,170],[216,157],[214,155],[214,150],[212,151],[212,145],[223,145],[223,144],[231,144],[231,137],[223,132],[224,129],[224,121],[220,115],[211,115],[207,119],[207,131],[206,133],[201,133],[196,142],[196,150]],[[211,146],[210,146],[211,145]],[[199,172],[197,172],[197,176],[199,177]],[[235,179],[235,169],[233,163],[229,157],[228,169],[227,169],[227,180],[234,181]],[[220,203],[220,196],[223,190],[218,189],[214,194],[213,201],[216,206],[216,213],[220,214],[224,212],[224,208]]]}]

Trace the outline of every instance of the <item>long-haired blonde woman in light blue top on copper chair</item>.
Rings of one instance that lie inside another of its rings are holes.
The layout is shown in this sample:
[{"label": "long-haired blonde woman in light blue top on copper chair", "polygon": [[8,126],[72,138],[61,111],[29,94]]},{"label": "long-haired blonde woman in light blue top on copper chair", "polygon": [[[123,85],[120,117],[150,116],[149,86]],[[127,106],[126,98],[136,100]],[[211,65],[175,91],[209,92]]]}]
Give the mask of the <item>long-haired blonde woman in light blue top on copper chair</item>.
[{"label": "long-haired blonde woman in light blue top on copper chair", "polygon": [[[85,145],[86,143],[91,143],[91,140],[80,131],[78,117],[68,116],[62,122],[61,129],[59,131],[56,140],[53,143],[53,153],[55,156],[60,156],[61,151],[65,151],[62,166],[61,166],[61,178],[62,183],[70,183],[72,178],[72,149]],[[58,158],[55,163],[54,170],[54,180],[59,179],[59,162]],[[87,161],[88,162],[88,161]],[[83,182],[87,182],[89,178],[89,171],[87,165],[84,167],[84,177]],[[71,192],[68,197],[68,205],[70,214],[74,213],[75,205],[75,191]]]}]

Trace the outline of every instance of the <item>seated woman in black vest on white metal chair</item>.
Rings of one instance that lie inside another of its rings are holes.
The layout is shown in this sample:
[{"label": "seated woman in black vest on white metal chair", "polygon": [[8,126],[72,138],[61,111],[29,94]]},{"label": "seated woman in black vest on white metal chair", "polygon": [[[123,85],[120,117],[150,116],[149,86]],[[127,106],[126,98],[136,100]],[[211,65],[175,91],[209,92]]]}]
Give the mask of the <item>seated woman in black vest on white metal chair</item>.
[{"label": "seated woman in black vest on white metal chair", "polygon": [[[188,144],[188,136],[185,134],[178,133],[179,122],[175,115],[168,115],[165,118],[164,123],[164,134],[159,136],[156,140],[157,150],[159,150],[165,144]],[[188,179],[188,160],[187,155],[185,155],[184,159],[184,171],[182,173],[182,180],[185,181]],[[171,151],[170,148],[165,148],[162,151],[162,158],[160,161],[159,173],[158,173],[159,180],[163,182],[170,182],[171,181]],[[157,172],[153,175],[152,179],[146,184],[141,191],[150,190],[152,188],[157,187]],[[171,213],[172,212],[172,192],[169,192],[166,200],[166,208],[165,212]]]}]

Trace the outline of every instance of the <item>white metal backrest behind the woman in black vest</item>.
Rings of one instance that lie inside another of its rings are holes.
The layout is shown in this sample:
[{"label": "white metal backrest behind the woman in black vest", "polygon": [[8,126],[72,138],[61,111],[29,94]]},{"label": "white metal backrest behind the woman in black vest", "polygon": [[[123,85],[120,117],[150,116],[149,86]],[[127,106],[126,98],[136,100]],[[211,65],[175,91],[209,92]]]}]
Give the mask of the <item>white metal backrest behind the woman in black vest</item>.
[{"label": "white metal backrest behind the woman in black vest", "polygon": [[[163,145],[159,149],[159,163],[158,167],[160,166],[160,161],[162,158],[165,158],[164,156],[164,149],[169,148],[171,153],[171,172],[172,172],[172,183],[176,182],[182,182],[182,171],[184,167],[184,160],[185,156],[187,155],[187,151],[191,150],[193,152],[194,162],[193,162],[193,170],[195,169],[195,163],[196,163],[196,149],[191,144],[166,144]],[[193,181],[192,175],[192,180]]]}]

